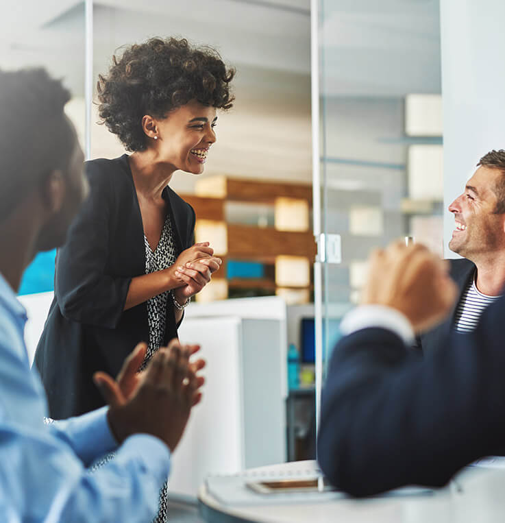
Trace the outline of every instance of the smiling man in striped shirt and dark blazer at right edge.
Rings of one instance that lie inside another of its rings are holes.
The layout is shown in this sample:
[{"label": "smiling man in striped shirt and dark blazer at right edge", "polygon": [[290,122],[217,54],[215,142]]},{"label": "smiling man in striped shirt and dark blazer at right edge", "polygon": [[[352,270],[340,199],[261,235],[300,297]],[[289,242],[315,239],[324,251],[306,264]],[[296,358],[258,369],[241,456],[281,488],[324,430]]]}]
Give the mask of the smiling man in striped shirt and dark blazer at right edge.
[{"label": "smiling man in striped shirt and dark blazer at right edge", "polygon": [[490,151],[449,211],[456,221],[449,249],[464,256],[450,260],[459,297],[447,320],[417,338],[424,354],[439,348],[449,330],[470,332],[484,308],[505,285],[505,151]]}]

